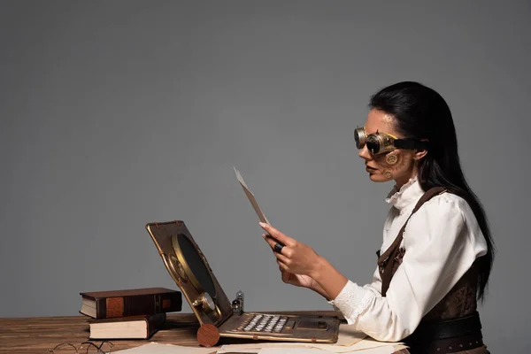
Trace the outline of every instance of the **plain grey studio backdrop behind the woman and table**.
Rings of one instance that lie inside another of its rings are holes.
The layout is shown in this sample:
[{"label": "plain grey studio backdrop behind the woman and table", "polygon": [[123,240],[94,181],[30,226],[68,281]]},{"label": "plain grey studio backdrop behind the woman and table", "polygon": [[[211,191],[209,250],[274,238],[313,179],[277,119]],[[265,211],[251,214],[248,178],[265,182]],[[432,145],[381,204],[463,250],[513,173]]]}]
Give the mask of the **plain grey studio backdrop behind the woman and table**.
[{"label": "plain grey studio backdrop behind the woman and table", "polygon": [[528,1],[0,5],[1,317],[177,289],[144,229],[172,219],[246,310],[330,309],[281,282],[233,165],[273,225],[370,281],[392,183],[368,180],[352,130],[411,80],[450,104],[496,239],[486,342],[531,349]]}]

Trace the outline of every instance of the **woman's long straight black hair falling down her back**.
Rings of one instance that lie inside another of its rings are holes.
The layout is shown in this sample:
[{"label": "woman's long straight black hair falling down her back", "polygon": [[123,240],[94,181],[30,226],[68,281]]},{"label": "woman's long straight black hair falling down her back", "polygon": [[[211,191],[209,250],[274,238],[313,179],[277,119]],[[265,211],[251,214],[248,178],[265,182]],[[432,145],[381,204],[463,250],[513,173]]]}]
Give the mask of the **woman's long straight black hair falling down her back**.
[{"label": "woman's long straight black hair falling down her back", "polygon": [[488,247],[487,254],[476,261],[479,266],[477,297],[483,300],[494,261],[494,242],[485,211],[468,186],[459,163],[458,138],[450,107],[434,89],[412,81],[381,89],[371,97],[369,107],[394,116],[396,130],[404,137],[427,140],[427,155],[418,164],[422,189],[444,187],[461,196],[472,208]]}]

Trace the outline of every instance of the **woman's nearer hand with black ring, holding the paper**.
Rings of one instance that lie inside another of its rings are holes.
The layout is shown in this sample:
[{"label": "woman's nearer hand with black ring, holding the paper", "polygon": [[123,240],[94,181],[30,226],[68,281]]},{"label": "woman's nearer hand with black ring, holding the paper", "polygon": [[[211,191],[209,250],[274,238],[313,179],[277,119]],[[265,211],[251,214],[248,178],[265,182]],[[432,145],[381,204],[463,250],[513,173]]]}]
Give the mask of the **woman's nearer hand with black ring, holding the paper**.
[{"label": "woman's nearer hand with black ring, holding the paper", "polygon": [[[289,275],[289,273],[307,275],[312,280],[316,278],[319,273],[320,262],[319,255],[312,249],[312,247],[282,234],[279,230],[270,225],[260,223],[260,227],[266,230],[268,235],[263,235],[263,237],[273,250],[275,250],[274,246],[277,242],[284,245],[280,252],[276,250],[274,252],[277,258],[277,263],[283,272],[282,280],[284,280],[285,277],[287,280],[291,280],[292,276]],[[287,275],[284,275],[284,273],[287,273]],[[299,277],[294,278],[292,281],[297,284],[305,284],[309,279],[306,277]]]}]

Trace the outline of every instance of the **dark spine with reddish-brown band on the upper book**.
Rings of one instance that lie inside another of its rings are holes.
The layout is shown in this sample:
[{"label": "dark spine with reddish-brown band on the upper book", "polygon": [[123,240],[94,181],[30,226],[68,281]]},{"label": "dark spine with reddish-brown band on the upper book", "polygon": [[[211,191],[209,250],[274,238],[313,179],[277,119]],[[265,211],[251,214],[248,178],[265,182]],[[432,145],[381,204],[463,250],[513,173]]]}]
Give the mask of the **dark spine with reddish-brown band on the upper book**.
[{"label": "dark spine with reddish-brown band on the upper book", "polygon": [[96,319],[179,312],[181,292],[137,296],[102,297],[96,300]]}]

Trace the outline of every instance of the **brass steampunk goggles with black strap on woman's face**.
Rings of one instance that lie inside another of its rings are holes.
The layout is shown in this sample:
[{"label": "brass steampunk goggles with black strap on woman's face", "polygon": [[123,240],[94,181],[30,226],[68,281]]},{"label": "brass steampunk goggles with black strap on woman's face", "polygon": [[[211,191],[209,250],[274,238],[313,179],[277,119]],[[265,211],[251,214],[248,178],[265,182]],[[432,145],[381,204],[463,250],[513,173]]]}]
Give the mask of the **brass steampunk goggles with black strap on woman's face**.
[{"label": "brass steampunk goggles with black strap on woman's face", "polygon": [[367,145],[367,149],[373,155],[380,155],[395,149],[426,150],[427,144],[415,139],[398,139],[395,135],[379,133],[367,135],[364,127],[354,130],[356,147],[361,150]]}]

